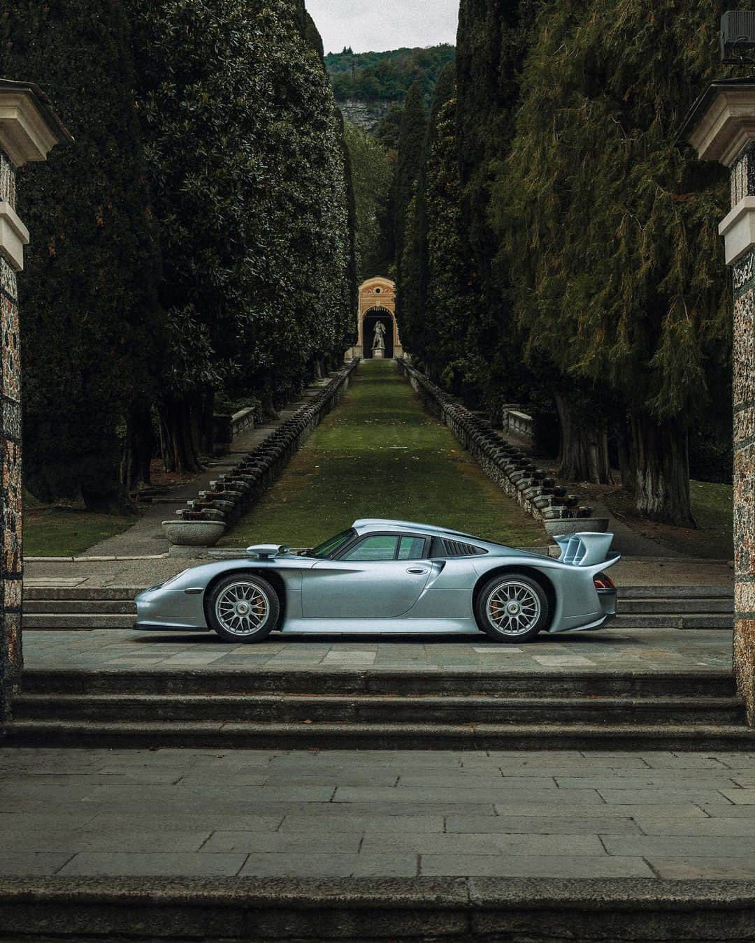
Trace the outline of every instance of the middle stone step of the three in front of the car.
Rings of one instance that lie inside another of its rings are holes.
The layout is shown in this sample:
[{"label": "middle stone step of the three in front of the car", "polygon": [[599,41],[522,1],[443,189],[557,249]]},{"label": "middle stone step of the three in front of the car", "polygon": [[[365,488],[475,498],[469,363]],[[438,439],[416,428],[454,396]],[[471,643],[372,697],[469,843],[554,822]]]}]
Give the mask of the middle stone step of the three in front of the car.
[{"label": "middle stone step of the three in front of the car", "polygon": [[[612,698],[365,695],[26,694],[13,702],[18,720],[99,722],[554,724],[735,724],[737,697]],[[753,741],[755,742],[755,741]]]}]

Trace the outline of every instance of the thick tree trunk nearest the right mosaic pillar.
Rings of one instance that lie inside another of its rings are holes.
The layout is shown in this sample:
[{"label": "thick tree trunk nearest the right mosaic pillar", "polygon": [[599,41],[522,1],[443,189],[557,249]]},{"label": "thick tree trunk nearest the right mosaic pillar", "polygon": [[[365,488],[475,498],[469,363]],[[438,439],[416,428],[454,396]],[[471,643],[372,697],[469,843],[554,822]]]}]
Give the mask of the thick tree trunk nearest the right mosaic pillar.
[{"label": "thick tree trunk nearest the right mosaic pillar", "polygon": [[630,417],[637,511],[678,527],[696,527],[690,503],[687,430],[681,422]]}]

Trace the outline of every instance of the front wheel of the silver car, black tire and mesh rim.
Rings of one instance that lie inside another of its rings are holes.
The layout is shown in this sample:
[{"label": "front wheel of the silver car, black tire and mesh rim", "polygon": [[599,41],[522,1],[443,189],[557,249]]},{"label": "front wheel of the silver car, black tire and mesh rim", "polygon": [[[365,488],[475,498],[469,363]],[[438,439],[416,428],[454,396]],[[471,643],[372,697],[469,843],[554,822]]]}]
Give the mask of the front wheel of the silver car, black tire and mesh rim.
[{"label": "front wheel of the silver car, black tire and mesh rim", "polygon": [[277,627],[280,601],[256,573],[228,573],[212,587],[205,612],[210,629],[224,641],[250,645]]}]

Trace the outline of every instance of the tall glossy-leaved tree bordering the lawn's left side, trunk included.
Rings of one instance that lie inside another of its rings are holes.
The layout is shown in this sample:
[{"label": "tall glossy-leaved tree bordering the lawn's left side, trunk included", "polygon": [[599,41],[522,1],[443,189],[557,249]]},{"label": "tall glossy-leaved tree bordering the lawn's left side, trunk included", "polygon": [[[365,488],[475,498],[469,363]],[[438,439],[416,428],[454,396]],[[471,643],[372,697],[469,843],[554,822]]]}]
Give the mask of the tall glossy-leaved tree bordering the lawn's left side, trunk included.
[{"label": "tall glossy-leaved tree bordering the lawn's left side, trunk included", "polygon": [[128,0],[171,347],[169,465],[195,469],[215,391],[273,409],[347,342],[343,122],[301,0]]}]

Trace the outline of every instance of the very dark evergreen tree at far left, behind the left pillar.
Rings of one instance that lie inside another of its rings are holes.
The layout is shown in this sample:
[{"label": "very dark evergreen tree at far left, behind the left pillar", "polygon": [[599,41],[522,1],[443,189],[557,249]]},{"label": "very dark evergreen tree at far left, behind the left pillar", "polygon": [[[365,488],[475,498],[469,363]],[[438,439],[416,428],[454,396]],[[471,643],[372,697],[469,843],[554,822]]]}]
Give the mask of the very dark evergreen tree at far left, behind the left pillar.
[{"label": "very dark evergreen tree at far left, behind the left pillar", "polygon": [[25,484],[44,501],[121,510],[121,431],[154,395],[161,330],[121,4],[8,0],[0,71],[39,82],[76,139],[20,181]]}]

